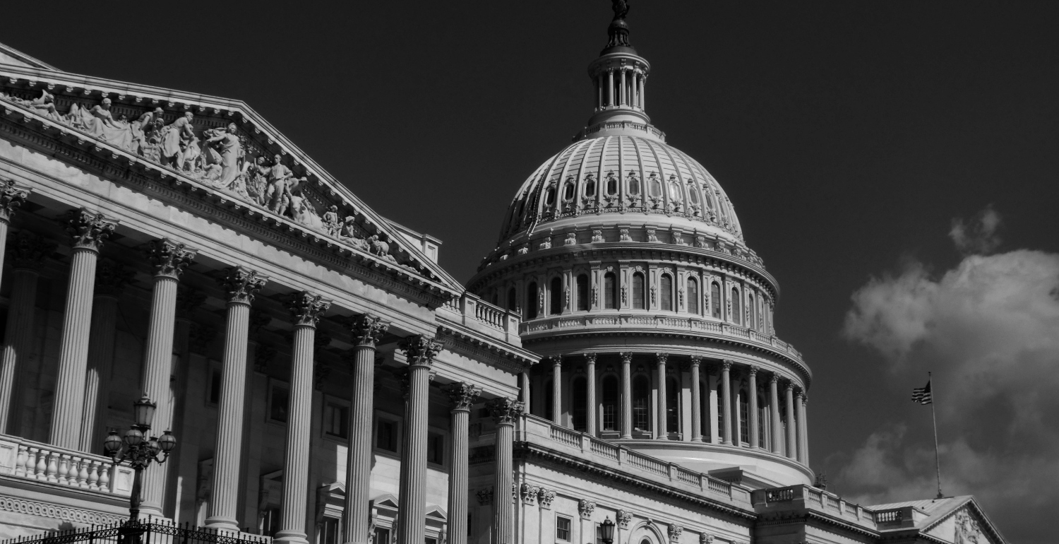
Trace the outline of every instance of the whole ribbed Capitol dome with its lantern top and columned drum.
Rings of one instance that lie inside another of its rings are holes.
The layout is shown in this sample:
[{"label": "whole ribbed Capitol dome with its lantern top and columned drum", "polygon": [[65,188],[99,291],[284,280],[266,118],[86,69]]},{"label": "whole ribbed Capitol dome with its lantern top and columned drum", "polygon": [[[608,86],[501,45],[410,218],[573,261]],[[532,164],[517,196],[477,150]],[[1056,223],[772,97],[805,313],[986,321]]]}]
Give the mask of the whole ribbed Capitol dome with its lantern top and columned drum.
[{"label": "whole ribbed Capitol dome with its lantern top and columned drum", "polygon": [[591,118],[519,188],[468,289],[522,317],[543,356],[523,399],[553,435],[752,488],[811,484],[812,373],[776,336],[779,286],[717,180],[651,124],[624,20],[609,34]]}]

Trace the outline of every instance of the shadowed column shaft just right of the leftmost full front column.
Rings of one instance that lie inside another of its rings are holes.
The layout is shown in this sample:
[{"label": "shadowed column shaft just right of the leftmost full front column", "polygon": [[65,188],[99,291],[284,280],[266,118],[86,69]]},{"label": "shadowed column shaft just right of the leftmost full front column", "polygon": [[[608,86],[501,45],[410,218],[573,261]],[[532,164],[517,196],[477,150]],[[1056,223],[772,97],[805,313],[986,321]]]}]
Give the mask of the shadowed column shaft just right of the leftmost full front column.
[{"label": "shadowed column shaft just right of the leftmost full front column", "polygon": [[[105,436],[110,369],[114,362],[118,297],[96,295],[92,301],[92,324],[85,374],[85,407],[80,427],[80,451],[98,453]],[[164,431],[164,429],[163,429]]]}]

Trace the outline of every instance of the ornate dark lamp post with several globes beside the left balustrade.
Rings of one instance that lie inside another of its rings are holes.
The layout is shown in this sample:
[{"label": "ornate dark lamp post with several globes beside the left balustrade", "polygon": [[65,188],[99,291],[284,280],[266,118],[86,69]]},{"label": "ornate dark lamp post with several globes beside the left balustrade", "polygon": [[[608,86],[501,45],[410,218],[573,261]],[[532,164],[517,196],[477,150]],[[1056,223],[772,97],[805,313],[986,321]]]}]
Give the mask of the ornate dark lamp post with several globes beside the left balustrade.
[{"label": "ornate dark lamp post with several globes beside the left balustrade", "polygon": [[[111,431],[107,438],[103,440],[103,449],[113,460],[114,464],[128,461],[132,468],[132,494],[129,496],[129,521],[128,525],[133,525],[140,517],[140,479],[143,470],[150,466],[151,461],[162,464],[169,458],[169,452],[177,446],[177,439],[172,433],[166,431],[161,437],[147,437],[150,431],[150,421],[155,418],[155,408],[158,405],[150,402],[144,393],[139,401],[132,403],[132,416],[136,423],[125,432],[124,437],[118,436],[116,431]],[[124,445],[124,449],[122,448]],[[162,454],[159,459],[158,455]],[[139,534],[137,534],[139,541]]]}]

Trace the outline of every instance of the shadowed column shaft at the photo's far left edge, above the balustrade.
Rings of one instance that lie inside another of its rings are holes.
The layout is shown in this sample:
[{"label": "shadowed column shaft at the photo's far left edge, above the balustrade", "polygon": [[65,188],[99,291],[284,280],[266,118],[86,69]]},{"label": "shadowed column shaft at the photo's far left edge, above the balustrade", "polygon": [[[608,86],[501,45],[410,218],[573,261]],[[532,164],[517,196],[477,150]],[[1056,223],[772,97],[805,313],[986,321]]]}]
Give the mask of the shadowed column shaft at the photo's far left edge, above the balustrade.
[{"label": "shadowed column shaft at the photo's far left edge, above the balustrade", "polygon": [[[0,222],[2,223],[2,222]],[[6,341],[0,363],[0,434],[18,434],[16,421],[22,403],[18,375],[23,373],[33,351],[34,310],[37,298],[37,273],[16,268],[12,277],[11,304],[7,306]]]}]

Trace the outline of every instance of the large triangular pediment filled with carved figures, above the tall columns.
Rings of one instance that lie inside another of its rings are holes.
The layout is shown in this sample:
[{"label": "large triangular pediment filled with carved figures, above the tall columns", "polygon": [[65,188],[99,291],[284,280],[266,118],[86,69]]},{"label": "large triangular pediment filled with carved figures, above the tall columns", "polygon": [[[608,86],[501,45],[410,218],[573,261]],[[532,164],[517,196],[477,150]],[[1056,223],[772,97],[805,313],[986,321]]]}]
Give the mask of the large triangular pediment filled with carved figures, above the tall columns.
[{"label": "large triangular pediment filled with carved figures, above the tall columns", "polygon": [[[15,50],[0,48],[0,105],[5,117],[67,143],[76,141],[126,170],[197,191],[211,203],[356,258],[363,266],[443,299],[463,291],[402,229],[372,210],[244,102],[61,72],[31,62],[28,55],[22,56],[29,60],[16,64],[22,57],[7,55],[8,51]],[[109,110],[101,112],[104,99],[110,101]],[[192,115],[190,129],[181,121],[185,113]],[[102,118],[108,121],[97,121]],[[237,143],[208,142],[227,135],[233,124]],[[174,130],[179,135],[170,134]],[[174,148],[181,151],[165,158]]]}]

